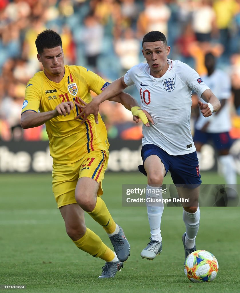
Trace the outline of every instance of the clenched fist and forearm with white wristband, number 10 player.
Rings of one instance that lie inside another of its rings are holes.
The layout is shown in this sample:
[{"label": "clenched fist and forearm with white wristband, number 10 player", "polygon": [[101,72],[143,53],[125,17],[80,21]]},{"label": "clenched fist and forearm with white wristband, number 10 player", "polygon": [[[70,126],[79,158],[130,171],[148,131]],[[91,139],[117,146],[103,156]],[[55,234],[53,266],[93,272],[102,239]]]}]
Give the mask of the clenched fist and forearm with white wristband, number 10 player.
[{"label": "clenched fist and forearm with white wristband, number 10 player", "polygon": [[217,112],[217,110],[220,109],[220,101],[210,89],[205,90],[202,93],[201,98],[207,102],[202,103],[201,101],[198,101],[198,107],[204,117],[209,117],[212,115],[212,112]]}]

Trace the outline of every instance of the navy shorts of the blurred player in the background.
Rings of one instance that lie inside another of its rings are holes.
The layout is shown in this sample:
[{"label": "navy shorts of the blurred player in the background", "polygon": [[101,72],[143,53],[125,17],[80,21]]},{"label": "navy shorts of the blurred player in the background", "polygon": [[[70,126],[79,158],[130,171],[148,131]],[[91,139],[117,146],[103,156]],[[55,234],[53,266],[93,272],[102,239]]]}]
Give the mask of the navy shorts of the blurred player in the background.
[{"label": "navy shorts of the blurred player in the background", "polygon": [[197,129],[195,129],[193,140],[194,142],[201,142],[202,144],[213,141],[216,149],[219,151],[222,149],[230,149],[233,143],[229,132],[207,133]]}]

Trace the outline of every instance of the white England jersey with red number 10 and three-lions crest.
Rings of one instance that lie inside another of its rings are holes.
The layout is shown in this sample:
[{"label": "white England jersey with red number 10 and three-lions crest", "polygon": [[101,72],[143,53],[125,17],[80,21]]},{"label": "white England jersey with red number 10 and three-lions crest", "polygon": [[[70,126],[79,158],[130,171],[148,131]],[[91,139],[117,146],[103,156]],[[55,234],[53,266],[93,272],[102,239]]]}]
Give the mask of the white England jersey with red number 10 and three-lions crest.
[{"label": "white England jersey with red number 10 and three-lions crest", "polygon": [[181,61],[168,59],[166,73],[156,78],[150,75],[148,64],[140,63],[127,71],[125,84],[137,87],[141,108],[154,125],[143,127],[142,145],[155,144],[170,155],[184,155],[196,150],[190,129],[192,90],[199,96],[209,89],[199,74]]}]

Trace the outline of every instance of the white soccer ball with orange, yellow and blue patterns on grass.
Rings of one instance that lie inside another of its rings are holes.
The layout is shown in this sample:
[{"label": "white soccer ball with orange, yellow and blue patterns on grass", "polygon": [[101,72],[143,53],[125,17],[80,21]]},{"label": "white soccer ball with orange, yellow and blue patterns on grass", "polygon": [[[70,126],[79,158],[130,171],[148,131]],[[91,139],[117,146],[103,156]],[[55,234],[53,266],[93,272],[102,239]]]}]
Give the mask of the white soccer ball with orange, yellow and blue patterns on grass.
[{"label": "white soccer ball with orange, yellow and blue patterns on grass", "polygon": [[185,260],[184,272],[192,282],[211,282],[217,276],[217,259],[209,251],[194,251]]}]

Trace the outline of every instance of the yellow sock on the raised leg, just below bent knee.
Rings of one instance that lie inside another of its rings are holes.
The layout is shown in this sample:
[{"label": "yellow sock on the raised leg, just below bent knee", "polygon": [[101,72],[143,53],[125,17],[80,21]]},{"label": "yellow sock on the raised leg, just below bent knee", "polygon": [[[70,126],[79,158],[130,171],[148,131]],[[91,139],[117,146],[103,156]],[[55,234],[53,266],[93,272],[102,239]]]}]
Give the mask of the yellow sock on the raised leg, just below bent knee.
[{"label": "yellow sock on the raised leg, just below bent knee", "polygon": [[116,223],[113,221],[105,202],[101,197],[97,196],[96,207],[92,212],[88,213],[98,224],[103,226],[103,229],[108,233],[112,234],[116,229]]}]

